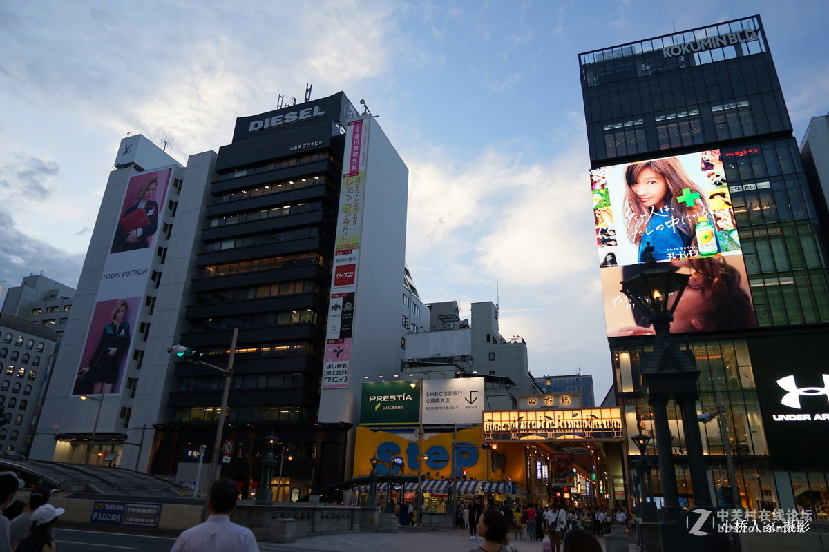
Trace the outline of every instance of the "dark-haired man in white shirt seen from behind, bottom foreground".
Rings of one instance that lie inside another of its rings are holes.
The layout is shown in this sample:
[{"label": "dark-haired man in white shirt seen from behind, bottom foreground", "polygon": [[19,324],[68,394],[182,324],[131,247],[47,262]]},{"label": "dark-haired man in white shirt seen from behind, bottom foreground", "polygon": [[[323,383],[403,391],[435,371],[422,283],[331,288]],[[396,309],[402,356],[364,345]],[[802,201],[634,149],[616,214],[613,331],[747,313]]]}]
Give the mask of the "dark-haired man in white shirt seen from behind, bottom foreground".
[{"label": "dark-haired man in white shirt seen from behind, bottom foreground", "polygon": [[213,483],[207,497],[207,521],[184,531],[170,552],[259,552],[250,529],[230,521],[238,495],[239,488],[230,479]]}]

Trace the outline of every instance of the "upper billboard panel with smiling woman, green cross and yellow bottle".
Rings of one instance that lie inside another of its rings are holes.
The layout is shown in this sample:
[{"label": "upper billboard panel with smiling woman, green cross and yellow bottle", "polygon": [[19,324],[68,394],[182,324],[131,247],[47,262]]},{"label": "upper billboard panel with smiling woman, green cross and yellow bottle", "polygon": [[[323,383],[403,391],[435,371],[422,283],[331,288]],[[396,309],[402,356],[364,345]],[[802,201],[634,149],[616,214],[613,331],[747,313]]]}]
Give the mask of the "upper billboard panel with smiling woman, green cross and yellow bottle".
[{"label": "upper billboard panel with smiling woman, green cross and yellow bottle", "polygon": [[720,150],[590,171],[600,266],[739,255]]}]

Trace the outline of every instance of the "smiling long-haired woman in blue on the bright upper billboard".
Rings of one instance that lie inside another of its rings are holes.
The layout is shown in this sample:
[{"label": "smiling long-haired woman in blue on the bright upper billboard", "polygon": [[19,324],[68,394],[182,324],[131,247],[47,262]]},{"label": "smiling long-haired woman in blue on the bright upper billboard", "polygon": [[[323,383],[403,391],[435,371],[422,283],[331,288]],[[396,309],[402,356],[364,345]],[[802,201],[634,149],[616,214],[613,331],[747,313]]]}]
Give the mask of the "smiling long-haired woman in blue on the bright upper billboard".
[{"label": "smiling long-haired woman in blue on the bright upper billboard", "polygon": [[702,221],[710,225],[707,195],[679,160],[631,163],[624,180],[624,217],[628,238],[639,247],[639,262],[645,260],[647,242],[657,261],[696,257],[697,227]]}]

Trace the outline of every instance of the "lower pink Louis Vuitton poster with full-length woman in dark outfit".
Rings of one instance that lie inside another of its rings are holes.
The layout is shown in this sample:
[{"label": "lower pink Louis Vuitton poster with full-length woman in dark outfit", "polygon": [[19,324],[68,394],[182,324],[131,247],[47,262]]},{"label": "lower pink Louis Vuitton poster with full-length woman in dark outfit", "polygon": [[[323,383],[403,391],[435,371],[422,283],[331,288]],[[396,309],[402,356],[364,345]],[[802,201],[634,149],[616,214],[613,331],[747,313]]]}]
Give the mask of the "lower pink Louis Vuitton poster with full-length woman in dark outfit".
[{"label": "lower pink Louis Vuitton poster with full-length woman in dark outfit", "polygon": [[119,392],[140,305],[140,297],[95,304],[73,395]]}]

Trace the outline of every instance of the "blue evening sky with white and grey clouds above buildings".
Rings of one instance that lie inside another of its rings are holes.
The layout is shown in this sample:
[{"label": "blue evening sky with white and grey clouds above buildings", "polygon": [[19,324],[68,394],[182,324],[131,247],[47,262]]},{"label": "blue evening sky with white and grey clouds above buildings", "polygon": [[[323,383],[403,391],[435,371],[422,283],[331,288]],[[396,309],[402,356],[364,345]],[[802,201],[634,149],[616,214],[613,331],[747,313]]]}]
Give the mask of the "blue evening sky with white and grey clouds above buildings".
[{"label": "blue evening sky with white and grey clouds above buildings", "polygon": [[[829,112],[825,2],[0,2],[0,286],[69,286],[121,138],[218,151],[236,117],[344,91],[410,170],[424,302],[492,301],[536,377],[612,384],[578,54],[758,14],[799,142]],[[5,282],[2,282],[5,281]]]}]

